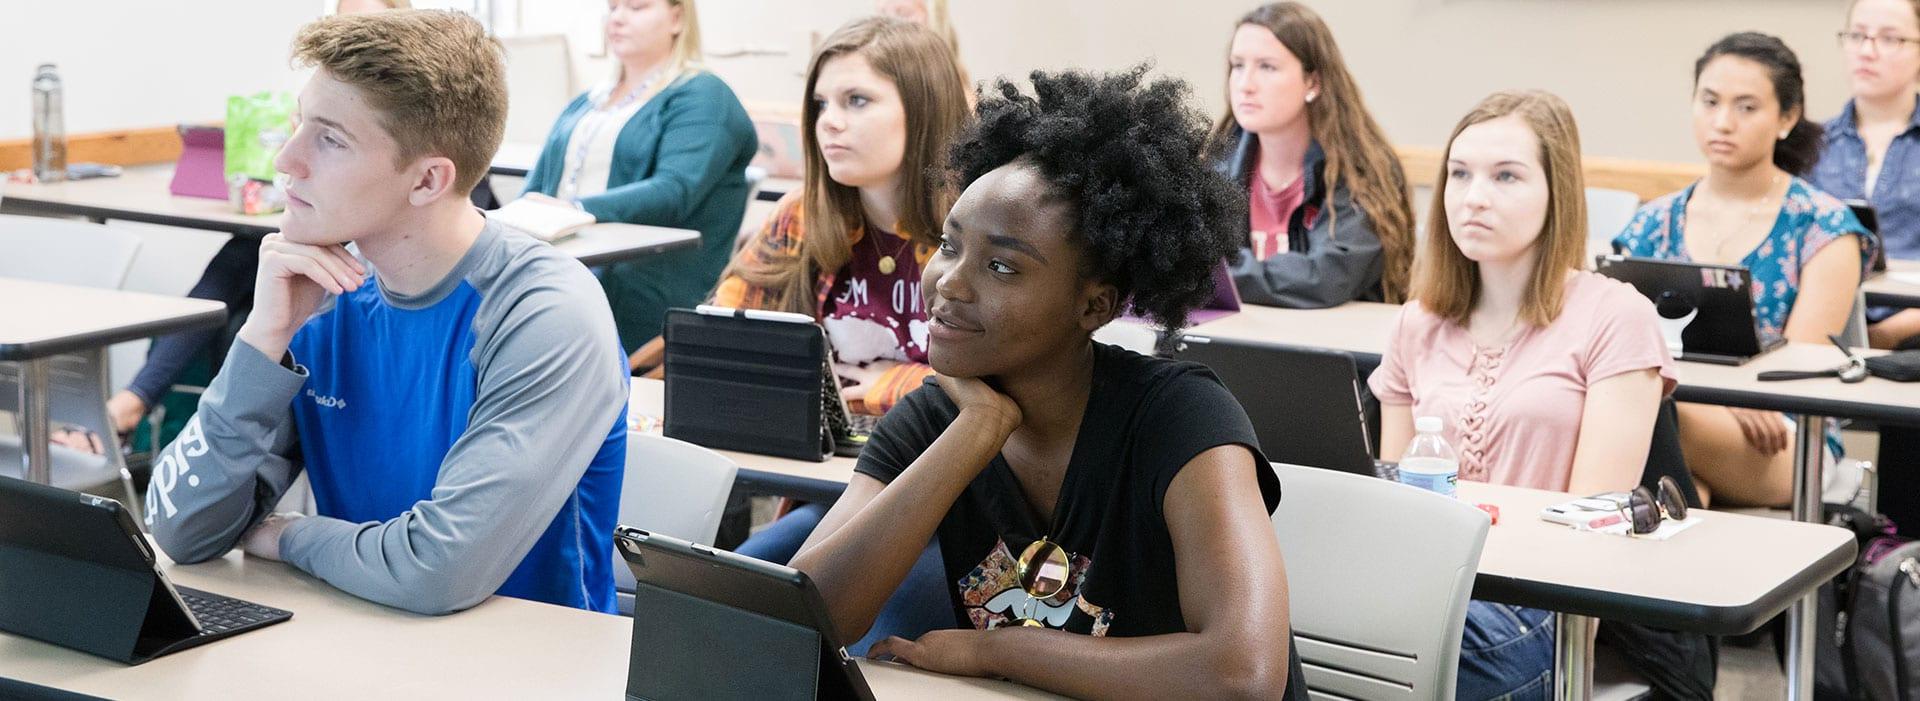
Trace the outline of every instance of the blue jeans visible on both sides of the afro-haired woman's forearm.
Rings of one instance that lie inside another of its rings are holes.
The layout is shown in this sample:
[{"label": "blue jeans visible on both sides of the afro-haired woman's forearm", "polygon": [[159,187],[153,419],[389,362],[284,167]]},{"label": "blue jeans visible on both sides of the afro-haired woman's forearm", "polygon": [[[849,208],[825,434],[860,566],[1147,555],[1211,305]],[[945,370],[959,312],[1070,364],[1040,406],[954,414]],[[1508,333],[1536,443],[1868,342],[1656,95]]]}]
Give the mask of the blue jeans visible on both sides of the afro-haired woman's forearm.
[{"label": "blue jeans visible on both sides of the afro-haired woman's forearm", "polygon": [[[733,551],[785,565],[801,551],[806,536],[820,526],[820,519],[826,515],[828,505],[824,503],[803,505],[753,534]],[[906,580],[900,580],[900,588],[893,590],[893,597],[879,609],[874,628],[866,632],[866,638],[847,645],[847,653],[866,657],[866,649],[887,640],[887,636],[918,640],[927,630],[954,628],[958,618],[954,618],[954,603],[947,593],[945,582],[947,565],[941,561],[941,542],[935,538],[927,544],[927,549],[920,551],[920,559],[906,572]]]}]

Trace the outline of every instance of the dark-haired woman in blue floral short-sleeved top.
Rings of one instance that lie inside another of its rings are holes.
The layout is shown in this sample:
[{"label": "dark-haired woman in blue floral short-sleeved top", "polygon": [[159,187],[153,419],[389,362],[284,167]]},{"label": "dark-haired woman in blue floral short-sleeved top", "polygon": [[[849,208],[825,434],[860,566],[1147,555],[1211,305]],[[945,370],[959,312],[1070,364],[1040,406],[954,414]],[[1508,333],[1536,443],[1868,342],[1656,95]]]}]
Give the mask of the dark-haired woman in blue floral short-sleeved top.
[{"label": "dark-haired woman in blue floral short-sleeved top", "polygon": [[[1647,202],[1613,240],[1617,252],[1753,273],[1763,336],[1828,344],[1853,311],[1874,236],[1832,194],[1801,177],[1820,157],[1805,119],[1799,58],[1780,38],[1738,33],[1693,63],[1693,138],[1707,177]],[[1784,507],[1793,494],[1793,423],[1778,411],[1680,403],[1680,446],[1701,497]],[[1828,424],[1830,463],[1839,430]],[[1839,471],[1824,471],[1836,480]]]}]

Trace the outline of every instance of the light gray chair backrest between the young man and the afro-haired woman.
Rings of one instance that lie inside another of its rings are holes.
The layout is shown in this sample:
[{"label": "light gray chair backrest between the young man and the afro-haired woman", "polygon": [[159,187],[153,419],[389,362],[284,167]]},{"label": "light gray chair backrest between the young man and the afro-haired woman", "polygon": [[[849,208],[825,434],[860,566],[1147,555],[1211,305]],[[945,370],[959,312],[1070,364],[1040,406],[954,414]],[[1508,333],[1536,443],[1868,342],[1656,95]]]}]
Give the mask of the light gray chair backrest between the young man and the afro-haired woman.
[{"label": "light gray chair backrest between the young man and the afro-haired woman", "polygon": [[[626,434],[626,478],[620,484],[620,524],[712,545],[726,497],[733,492],[733,461],[707,447],[666,436]],[[634,572],[612,557],[620,613],[634,613]]]}]

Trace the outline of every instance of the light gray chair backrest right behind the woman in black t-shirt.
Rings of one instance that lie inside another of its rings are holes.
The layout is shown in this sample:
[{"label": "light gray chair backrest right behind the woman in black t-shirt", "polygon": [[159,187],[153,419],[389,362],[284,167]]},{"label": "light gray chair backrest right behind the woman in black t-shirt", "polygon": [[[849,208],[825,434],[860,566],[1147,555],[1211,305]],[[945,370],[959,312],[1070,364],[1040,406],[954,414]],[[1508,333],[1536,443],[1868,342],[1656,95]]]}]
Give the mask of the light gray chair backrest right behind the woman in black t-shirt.
[{"label": "light gray chair backrest right behind the woman in black t-shirt", "polygon": [[1488,519],[1373,476],[1281,465],[1273,532],[1313,697],[1452,699]]}]

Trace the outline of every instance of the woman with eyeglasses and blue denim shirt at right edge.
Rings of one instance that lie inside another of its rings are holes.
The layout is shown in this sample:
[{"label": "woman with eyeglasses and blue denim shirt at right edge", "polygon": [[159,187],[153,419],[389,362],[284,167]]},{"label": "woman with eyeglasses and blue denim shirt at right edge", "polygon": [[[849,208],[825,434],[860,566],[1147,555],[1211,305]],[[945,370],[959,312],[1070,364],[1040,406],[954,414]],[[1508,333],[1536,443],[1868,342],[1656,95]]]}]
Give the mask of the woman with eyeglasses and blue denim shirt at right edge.
[{"label": "woman with eyeglasses and blue denim shirt at right edge", "polygon": [[[1920,259],[1920,0],[1855,0],[1839,31],[1853,98],[1826,123],[1812,184],[1866,200],[1887,257]],[[1920,336],[1920,309],[1868,309],[1874,348]]]}]

